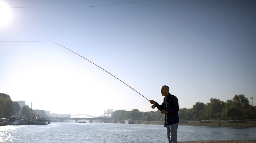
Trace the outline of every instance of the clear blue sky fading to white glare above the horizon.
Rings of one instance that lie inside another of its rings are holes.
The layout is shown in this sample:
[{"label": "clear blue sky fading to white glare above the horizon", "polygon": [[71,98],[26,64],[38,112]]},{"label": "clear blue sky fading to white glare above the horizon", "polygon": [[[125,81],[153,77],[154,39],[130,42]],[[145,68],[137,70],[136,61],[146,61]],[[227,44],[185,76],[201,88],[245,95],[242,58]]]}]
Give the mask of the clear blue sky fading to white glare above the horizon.
[{"label": "clear blue sky fading to white glare above the horizon", "polygon": [[[9,7],[0,6],[0,41],[56,42],[147,99],[162,103],[162,85],[170,87],[180,108],[210,98],[226,102],[235,94],[256,99],[253,0],[0,1]],[[104,6],[86,7],[96,5]],[[84,7],[60,8],[78,6]],[[57,114],[157,110],[54,43],[0,42],[0,93]]]}]

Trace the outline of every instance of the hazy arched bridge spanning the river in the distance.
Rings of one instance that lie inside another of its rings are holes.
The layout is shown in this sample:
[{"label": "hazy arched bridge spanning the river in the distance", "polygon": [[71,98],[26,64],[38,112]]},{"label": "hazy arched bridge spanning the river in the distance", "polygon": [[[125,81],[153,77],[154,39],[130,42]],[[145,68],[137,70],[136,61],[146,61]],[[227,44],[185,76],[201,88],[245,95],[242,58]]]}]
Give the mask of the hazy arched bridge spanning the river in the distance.
[{"label": "hazy arched bridge spanning the river in the distance", "polygon": [[[78,116],[87,116],[87,117],[78,117]],[[96,120],[100,120],[103,123],[112,123],[113,122],[113,118],[101,118],[101,117],[94,117],[91,115],[84,115],[84,114],[79,114],[79,115],[70,115],[67,117],[49,117],[50,120],[58,120],[60,122],[63,122],[64,120],[75,120],[76,123],[79,120],[89,120],[90,123],[92,123],[93,121]]]}]

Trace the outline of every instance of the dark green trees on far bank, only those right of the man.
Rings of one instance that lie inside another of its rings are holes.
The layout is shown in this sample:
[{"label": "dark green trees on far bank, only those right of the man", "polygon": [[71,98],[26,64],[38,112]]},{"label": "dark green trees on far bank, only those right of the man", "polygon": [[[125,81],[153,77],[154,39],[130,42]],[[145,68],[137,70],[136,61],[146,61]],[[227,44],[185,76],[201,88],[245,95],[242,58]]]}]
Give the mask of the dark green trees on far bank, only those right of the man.
[{"label": "dark green trees on far bank, only those right of the man", "polygon": [[248,119],[254,113],[250,107],[249,100],[242,94],[235,95],[227,102],[211,98],[209,103],[196,102],[191,109],[180,109],[179,117],[180,120]]}]

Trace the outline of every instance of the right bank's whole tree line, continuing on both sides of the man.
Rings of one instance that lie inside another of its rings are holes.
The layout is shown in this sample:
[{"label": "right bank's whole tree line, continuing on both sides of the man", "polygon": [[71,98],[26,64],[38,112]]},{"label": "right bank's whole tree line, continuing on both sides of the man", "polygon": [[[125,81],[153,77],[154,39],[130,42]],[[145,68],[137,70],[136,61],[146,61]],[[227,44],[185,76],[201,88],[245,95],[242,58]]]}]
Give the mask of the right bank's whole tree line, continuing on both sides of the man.
[{"label": "right bank's whole tree line, continuing on both sides of the man", "polygon": [[[227,102],[211,98],[209,103],[196,102],[192,108],[179,109],[179,118],[181,121],[253,119],[256,106],[252,107],[249,103],[249,99],[243,94],[235,95],[233,99],[227,100]],[[139,112],[138,109],[133,109],[132,111],[114,111],[112,118],[116,120],[131,118],[143,121],[162,121],[164,115],[160,111]]]}]

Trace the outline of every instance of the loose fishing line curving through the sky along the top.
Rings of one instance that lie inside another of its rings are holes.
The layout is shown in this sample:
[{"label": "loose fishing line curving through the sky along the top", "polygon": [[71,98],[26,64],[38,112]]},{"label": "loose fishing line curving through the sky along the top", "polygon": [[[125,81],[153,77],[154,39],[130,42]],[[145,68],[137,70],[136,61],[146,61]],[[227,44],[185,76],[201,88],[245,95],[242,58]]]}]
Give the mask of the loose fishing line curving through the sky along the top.
[{"label": "loose fishing line curving through the sky along the top", "polygon": [[107,5],[114,5],[114,4],[127,4],[127,3],[143,4],[143,5],[149,6],[149,7],[151,7],[151,8],[154,8],[154,9],[156,9],[156,10],[158,10],[158,11],[161,11],[161,12],[164,12],[164,13],[169,14],[169,15],[171,15],[171,16],[174,16],[174,17],[176,17],[176,18],[178,18],[178,19],[180,19],[180,20],[185,21],[185,22],[186,22],[191,28],[193,28],[197,33],[199,33],[199,34],[201,34],[201,35],[203,35],[203,36],[205,36],[205,37],[207,37],[207,38],[216,40],[216,39],[214,39],[214,38],[212,38],[212,37],[209,37],[209,36],[204,35],[203,33],[199,32],[199,31],[196,30],[187,20],[185,20],[185,19],[183,19],[183,18],[181,18],[181,17],[178,17],[178,16],[176,16],[176,15],[174,15],[174,14],[171,14],[171,13],[169,13],[169,12],[166,12],[166,11],[163,11],[163,10],[161,10],[161,9],[158,9],[158,8],[156,8],[156,7],[154,7],[154,6],[151,6],[151,5],[148,5],[148,4],[144,4],[144,3],[138,3],[138,2],[120,2],[120,3],[112,3],[112,4],[92,5],[92,6],[24,6],[24,7],[9,7],[9,8],[88,8],[88,7],[100,7],[100,6],[107,6]]}]

